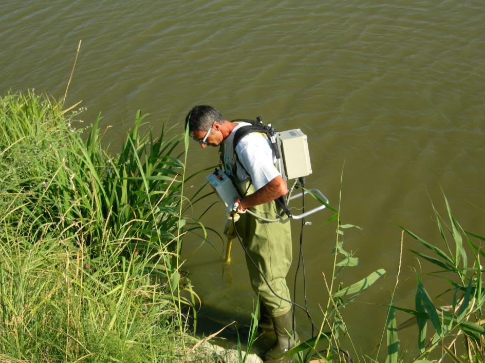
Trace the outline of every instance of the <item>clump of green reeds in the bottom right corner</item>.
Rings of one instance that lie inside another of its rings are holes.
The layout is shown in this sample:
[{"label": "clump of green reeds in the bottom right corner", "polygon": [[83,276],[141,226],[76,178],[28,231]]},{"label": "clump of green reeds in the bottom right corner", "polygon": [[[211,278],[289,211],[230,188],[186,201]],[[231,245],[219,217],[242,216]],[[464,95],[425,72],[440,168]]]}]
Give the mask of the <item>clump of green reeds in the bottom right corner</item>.
[{"label": "clump of green reeds in the bottom right corner", "polygon": [[[394,314],[388,319],[388,362],[400,360],[398,331],[413,325],[413,322],[417,325],[416,346],[419,350],[415,360],[426,361],[434,356],[438,357],[439,361],[485,361],[485,289],[482,287],[485,270],[480,262],[480,258],[485,257],[485,252],[478,244],[485,242],[485,237],[465,231],[461,227],[446,196],[444,205],[446,218],[438,213],[434,205],[432,206],[439,232],[438,241],[426,241],[407,228],[401,227],[427,252],[414,248],[409,251],[419,260],[431,263],[437,270],[425,275],[416,273],[414,309],[390,305],[391,311],[400,310],[413,317],[399,326]],[[439,277],[448,288],[432,298],[425,288],[424,278],[427,275]],[[446,301],[447,304],[438,305],[438,299]]]}]

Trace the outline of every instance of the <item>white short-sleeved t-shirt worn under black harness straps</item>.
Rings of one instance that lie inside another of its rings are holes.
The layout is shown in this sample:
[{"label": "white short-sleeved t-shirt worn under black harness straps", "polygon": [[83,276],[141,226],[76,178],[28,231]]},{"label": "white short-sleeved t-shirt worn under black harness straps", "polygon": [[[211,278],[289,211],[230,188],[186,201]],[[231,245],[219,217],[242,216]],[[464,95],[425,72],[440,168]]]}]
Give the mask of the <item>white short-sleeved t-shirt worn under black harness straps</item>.
[{"label": "white short-sleeved t-shirt worn under black harness straps", "polygon": [[[245,122],[239,123],[224,140],[224,166],[226,173],[229,175],[233,173],[232,157],[235,132],[241,126],[246,125],[251,124]],[[271,148],[270,140],[264,134],[251,132],[241,138],[236,146],[236,153],[239,162],[244,166],[244,168],[241,168],[240,165],[236,164],[236,178],[238,183],[248,178],[248,174],[244,169],[249,172],[255,190],[264,187],[276,176],[281,175],[274,166],[276,157]]]}]

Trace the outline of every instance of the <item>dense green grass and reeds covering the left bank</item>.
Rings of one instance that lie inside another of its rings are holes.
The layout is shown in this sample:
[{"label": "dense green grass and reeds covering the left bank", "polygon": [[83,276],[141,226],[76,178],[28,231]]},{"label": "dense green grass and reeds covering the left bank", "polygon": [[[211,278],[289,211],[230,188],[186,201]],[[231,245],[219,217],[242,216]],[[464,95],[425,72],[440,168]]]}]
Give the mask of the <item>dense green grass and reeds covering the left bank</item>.
[{"label": "dense green grass and reeds covering the left bank", "polygon": [[138,112],[111,156],[76,114],[0,98],[0,358],[180,360],[183,135],[140,135]]}]

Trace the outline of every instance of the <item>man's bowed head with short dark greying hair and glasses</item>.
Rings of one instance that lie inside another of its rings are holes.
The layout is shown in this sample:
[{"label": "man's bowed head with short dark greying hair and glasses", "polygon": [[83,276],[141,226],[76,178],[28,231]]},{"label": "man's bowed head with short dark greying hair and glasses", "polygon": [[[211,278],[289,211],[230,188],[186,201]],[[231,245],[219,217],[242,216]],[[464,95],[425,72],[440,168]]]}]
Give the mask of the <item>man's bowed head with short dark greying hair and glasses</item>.
[{"label": "man's bowed head with short dark greying hair and glasses", "polygon": [[216,108],[199,105],[193,107],[185,117],[185,129],[189,127],[189,135],[197,140],[202,147],[206,145],[217,146],[222,139],[219,140],[219,135],[211,134],[219,132],[219,127],[223,122],[225,122],[225,119]]}]

